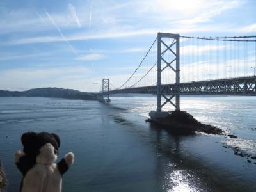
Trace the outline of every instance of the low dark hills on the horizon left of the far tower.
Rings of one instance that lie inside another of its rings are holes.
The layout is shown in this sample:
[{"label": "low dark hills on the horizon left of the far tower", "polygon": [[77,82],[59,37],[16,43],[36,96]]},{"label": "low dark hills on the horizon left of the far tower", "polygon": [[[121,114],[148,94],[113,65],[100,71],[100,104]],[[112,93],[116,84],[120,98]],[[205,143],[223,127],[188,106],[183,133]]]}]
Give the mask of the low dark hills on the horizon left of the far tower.
[{"label": "low dark hills on the horizon left of the far tower", "polygon": [[35,88],[24,92],[0,90],[0,97],[57,97],[96,100],[95,93],[79,92],[77,90],[63,88]]}]

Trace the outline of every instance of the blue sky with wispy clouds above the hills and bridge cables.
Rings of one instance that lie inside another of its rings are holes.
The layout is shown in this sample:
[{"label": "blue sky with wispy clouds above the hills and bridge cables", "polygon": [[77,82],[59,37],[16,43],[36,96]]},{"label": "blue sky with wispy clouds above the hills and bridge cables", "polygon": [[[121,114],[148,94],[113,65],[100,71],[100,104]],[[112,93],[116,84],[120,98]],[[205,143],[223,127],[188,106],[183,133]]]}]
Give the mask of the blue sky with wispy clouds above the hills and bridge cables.
[{"label": "blue sky with wispy clouds above the hills and bridge cables", "polygon": [[0,90],[120,86],[157,32],[256,34],[255,0],[0,0]]}]

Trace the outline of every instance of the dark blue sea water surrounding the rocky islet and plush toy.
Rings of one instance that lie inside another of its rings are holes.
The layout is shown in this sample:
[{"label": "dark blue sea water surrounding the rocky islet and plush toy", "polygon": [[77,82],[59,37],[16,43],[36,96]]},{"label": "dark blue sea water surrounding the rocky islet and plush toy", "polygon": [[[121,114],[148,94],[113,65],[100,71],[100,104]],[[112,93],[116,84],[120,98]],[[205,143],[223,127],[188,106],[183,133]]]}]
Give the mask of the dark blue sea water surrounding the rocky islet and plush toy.
[{"label": "dark blue sea water surrounding the rocky islet and plush toy", "polygon": [[145,119],[156,109],[150,95],[111,97],[110,104],[1,97],[0,159],[7,191],[19,191],[22,175],[13,156],[27,131],[58,134],[58,161],[74,152],[63,191],[256,191],[256,160],[233,150],[256,156],[256,97],[181,97],[180,108],[237,138],[175,136],[150,125]]}]

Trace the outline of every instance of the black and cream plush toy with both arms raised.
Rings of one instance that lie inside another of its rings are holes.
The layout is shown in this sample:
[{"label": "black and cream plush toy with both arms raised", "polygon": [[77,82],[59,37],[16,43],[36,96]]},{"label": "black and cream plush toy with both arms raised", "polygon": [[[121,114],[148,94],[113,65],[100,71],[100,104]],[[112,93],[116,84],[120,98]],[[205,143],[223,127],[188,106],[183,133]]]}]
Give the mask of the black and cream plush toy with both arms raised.
[{"label": "black and cream plush toy with both arms raised", "polygon": [[23,175],[21,192],[60,192],[62,175],[74,163],[69,152],[59,163],[60,138],[48,132],[26,132],[21,137],[23,151],[15,153],[15,163]]}]

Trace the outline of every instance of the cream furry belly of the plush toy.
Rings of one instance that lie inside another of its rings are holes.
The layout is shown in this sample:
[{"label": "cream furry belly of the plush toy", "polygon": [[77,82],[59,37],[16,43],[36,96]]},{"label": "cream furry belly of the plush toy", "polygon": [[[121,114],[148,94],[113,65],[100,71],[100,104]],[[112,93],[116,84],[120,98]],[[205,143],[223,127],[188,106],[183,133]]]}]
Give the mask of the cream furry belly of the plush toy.
[{"label": "cream furry belly of the plush toy", "polygon": [[35,164],[26,173],[22,192],[61,192],[62,177],[56,163]]}]

